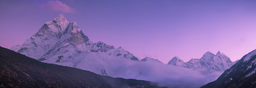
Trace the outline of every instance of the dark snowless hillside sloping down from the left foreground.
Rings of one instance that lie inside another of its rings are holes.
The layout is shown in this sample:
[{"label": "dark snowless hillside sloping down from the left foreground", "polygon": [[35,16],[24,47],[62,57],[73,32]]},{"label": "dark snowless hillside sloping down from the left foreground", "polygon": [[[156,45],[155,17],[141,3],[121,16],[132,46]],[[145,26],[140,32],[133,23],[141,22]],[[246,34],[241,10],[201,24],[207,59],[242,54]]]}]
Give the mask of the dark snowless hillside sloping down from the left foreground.
[{"label": "dark snowless hillside sloping down from the left foreground", "polygon": [[101,76],[86,70],[39,62],[0,47],[0,88],[161,88],[144,80]]}]

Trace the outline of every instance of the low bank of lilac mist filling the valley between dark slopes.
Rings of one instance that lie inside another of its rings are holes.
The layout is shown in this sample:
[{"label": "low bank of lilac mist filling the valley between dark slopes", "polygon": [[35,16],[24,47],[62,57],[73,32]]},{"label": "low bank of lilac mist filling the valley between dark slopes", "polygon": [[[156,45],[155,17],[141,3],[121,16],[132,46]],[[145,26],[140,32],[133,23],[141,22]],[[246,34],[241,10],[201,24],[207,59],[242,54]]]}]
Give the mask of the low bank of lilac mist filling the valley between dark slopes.
[{"label": "low bank of lilac mist filling the valley between dark slopes", "polygon": [[109,76],[147,80],[170,88],[198,88],[216,80],[221,73],[202,75],[198,71],[158,62],[114,59],[107,68]]}]

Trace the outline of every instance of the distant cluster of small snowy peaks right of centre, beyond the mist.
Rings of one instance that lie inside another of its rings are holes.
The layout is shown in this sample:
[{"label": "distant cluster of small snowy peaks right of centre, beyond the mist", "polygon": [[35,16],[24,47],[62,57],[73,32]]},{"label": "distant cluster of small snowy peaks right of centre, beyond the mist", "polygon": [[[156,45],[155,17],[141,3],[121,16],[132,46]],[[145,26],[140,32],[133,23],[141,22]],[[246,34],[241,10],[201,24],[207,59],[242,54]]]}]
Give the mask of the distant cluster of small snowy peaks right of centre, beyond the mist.
[{"label": "distant cluster of small snowy peaks right of centre, beyond the mist", "polygon": [[230,68],[237,61],[232,62],[228,56],[221,53],[220,51],[214,55],[211,52],[206,52],[200,59],[191,59],[188,62],[184,62],[179,57],[175,56],[172,58],[168,65],[174,65],[178,67],[187,67],[193,70],[199,70],[203,74],[213,72],[224,72],[224,70]]}]

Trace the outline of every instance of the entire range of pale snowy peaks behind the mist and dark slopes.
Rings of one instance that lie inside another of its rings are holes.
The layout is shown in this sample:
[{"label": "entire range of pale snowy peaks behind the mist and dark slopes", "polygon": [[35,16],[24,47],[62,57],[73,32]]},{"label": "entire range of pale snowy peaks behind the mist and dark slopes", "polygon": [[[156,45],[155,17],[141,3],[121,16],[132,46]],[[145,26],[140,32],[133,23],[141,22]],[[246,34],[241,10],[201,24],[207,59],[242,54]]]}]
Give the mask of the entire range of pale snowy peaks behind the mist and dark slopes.
[{"label": "entire range of pale snowy peaks behind the mist and dark slopes", "polygon": [[[63,15],[44,23],[39,31],[28,38],[24,44],[14,45],[10,49],[41,62],[89,70],[103,76],[108,76],[108,69],[111,68],[106,67],[113,60],[139,60],[122,47],[115,48],[101,41],[91,42],[76,22],[68,22]],[[149,57],[140,61],[162,63]],[[168,65],[186,67],[208,74],[224,72],[234,63],[223,53],[218,52],[214,55],[206,52],[201,59],[191,59],[188,62],[183,62],[175,56]]]}]

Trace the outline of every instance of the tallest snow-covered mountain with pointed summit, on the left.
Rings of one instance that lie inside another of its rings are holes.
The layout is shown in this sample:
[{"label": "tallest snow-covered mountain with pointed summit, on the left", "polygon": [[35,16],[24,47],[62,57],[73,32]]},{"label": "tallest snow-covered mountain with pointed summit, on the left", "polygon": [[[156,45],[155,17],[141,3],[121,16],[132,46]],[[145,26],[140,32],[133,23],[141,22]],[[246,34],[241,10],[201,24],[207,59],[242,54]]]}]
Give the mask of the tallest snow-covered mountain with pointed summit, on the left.
[{"label": "tallest snow-covered mountain with pointed summit, on the left", "polygon": [[133,54],[119,47],[98,41],[92,43],[75,22],[66,21],[63,15],[46,22],[39,31],[13,51],[36,60],[75,67],[107,75],[105,65],[111,59],[138,60]]}]

